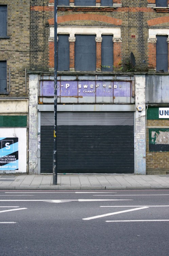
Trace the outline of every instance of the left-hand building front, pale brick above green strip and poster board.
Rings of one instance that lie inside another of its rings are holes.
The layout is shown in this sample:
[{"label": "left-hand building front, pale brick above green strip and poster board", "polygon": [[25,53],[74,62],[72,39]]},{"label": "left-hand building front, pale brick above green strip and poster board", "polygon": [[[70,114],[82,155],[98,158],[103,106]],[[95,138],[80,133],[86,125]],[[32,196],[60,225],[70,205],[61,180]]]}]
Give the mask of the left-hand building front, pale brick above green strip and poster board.
[{"label": "left-hand building front, pale brick above green strip and poster board", "polygon": [[0,173],[26,172],[29,1],[1,0],[0,23]]}]

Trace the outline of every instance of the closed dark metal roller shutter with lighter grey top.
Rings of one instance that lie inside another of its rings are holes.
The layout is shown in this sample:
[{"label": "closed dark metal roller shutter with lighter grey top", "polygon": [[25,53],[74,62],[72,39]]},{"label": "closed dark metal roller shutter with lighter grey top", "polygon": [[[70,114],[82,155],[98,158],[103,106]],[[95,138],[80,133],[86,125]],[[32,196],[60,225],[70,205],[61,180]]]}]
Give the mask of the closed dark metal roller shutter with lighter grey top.
[{"label": "closed dark metal roller shutter with lighter grey top", "polygon": [[[41,173],[53,170],[53,118],[41,112]],[[134,173],[133,112],[60,112],[58,172]]]}]

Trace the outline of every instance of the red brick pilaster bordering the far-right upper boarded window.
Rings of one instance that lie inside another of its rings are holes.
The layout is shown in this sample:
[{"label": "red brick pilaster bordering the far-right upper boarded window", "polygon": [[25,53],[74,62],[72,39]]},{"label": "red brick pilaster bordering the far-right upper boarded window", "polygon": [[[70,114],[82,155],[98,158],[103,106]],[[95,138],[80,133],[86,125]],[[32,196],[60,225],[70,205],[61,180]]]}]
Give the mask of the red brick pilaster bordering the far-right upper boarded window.
[{"label": "red brick pilaster bordering the far-right upper boarded window", "polygon": [[149,69],[156,69],[156,38],[148,39],[148,63]]}]

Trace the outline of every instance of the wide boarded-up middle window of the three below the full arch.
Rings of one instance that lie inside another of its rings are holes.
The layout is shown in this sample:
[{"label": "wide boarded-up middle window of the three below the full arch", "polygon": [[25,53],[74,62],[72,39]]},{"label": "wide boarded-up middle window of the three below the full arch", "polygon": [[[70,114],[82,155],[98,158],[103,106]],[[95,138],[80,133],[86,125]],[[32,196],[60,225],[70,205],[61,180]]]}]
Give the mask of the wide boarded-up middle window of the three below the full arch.
[{"label": "wide boarded-up middle window of the three below the full arch", "polygon": [[95,35],[76,35],[75,70],[96,71]]}]

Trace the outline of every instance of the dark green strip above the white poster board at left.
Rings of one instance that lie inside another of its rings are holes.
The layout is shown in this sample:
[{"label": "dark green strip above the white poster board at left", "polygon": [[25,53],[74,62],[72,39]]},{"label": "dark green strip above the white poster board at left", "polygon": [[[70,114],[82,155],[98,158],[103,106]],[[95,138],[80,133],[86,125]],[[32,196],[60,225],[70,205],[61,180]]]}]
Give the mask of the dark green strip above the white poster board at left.
[{"label": "dark green strip above the white poster board at left", "polygon": [[0,116],[0,127],[27,127],[27,116]]}]

